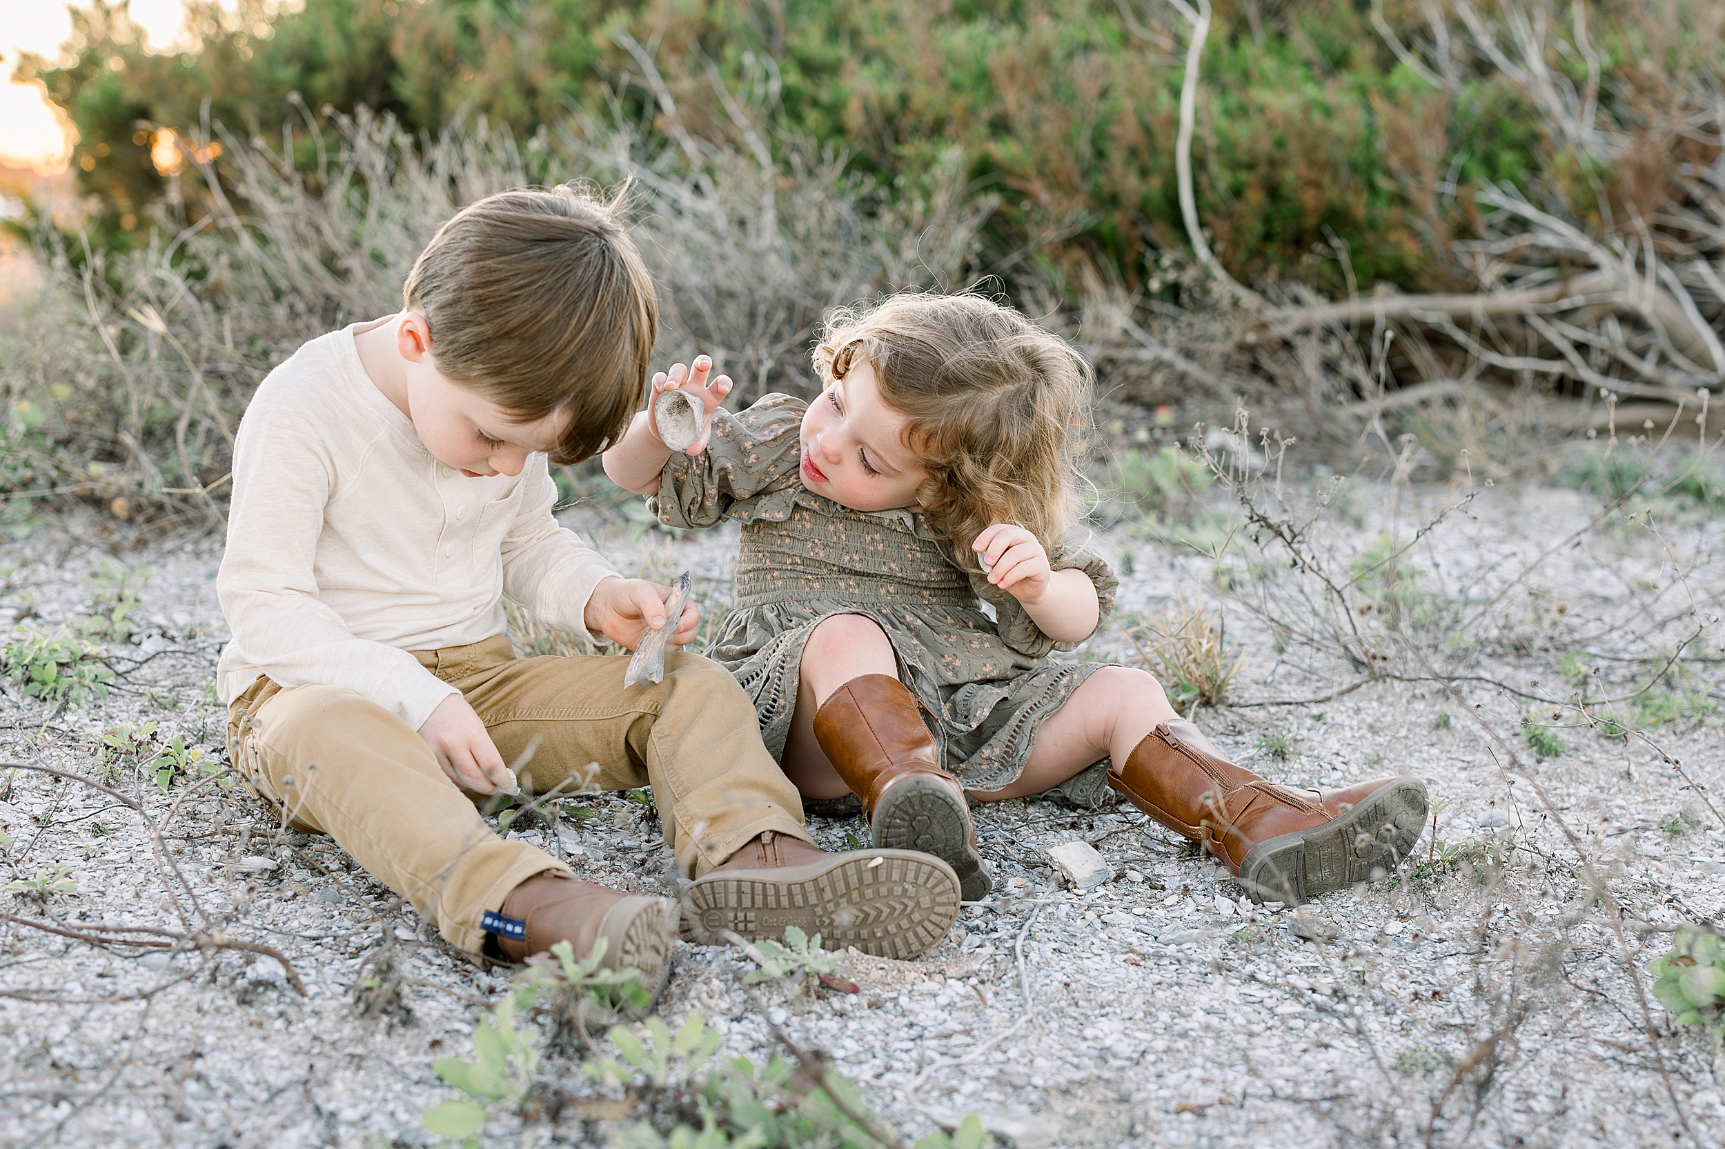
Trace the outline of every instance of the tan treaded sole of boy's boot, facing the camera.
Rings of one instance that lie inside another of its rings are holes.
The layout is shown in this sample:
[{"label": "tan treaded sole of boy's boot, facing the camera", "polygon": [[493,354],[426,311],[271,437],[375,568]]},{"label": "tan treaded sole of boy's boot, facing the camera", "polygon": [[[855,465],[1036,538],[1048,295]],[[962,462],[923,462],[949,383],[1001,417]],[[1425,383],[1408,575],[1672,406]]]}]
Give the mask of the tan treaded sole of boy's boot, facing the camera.
[{"label": "tan treaded sole of boy's boot, facing the camera", "polygon": [[683,939],[719,944],[731,930],[781,940],[787,926],[821,935],[830,951],[856,945],[906,961],[937,945],[959,916],[952,866],[911,851],[828,854],[802,866],[719,870],[683,894]]}]

